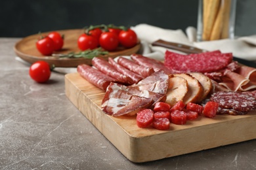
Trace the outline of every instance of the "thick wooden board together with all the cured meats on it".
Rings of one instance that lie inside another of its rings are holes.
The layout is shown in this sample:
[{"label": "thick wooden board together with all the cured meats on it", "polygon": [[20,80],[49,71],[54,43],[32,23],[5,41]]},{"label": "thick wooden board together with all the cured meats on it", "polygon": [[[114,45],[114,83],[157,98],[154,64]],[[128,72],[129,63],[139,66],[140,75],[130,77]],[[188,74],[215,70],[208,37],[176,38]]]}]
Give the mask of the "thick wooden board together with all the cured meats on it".
[{"label": "thick wooden board together with all the cured meats on it", "polygon": [[65,80],[72,103],[131,161],[256,137],[256,69],[232,53],[93,58]]}]

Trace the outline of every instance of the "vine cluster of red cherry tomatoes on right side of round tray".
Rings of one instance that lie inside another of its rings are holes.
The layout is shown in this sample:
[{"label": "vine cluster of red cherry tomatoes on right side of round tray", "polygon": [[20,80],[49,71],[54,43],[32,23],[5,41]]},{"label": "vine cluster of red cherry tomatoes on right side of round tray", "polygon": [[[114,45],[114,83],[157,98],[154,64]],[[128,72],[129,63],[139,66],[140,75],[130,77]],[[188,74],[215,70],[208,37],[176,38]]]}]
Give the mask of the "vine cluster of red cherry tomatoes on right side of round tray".
[{"label": "vine cluster of red cherry tomatoes on right side of round tray", "polygon": [[77,45],[80,50],[95,49],[99,46],[114,51],[119,45],[132,48],[137,44],[137,34],[130,28],[116,25],[91,25],[79,36]]}]

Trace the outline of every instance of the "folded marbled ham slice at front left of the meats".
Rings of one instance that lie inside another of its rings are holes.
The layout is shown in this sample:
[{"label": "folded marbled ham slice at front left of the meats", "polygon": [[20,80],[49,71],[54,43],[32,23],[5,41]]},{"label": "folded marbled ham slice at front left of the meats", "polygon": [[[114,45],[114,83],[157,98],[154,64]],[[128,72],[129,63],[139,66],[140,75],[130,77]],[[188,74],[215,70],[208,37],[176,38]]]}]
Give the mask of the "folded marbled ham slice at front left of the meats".
[{"label": "folded marbled ham slice at front left of the meats", "polygon": [[102,110],[112,116],[132,116],[140,109],[148,108],[158,101],[165,101],[165,94],[140,91],[136,87],[110,83],[102,99]]}]

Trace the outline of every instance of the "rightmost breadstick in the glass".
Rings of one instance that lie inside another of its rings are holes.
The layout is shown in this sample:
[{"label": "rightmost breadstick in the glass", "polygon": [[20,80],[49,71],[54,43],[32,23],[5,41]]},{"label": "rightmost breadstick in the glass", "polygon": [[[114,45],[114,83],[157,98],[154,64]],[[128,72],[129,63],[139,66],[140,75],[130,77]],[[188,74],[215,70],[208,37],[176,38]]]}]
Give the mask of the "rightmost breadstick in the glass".
[{"label": "rightmost breadstick in the glass", "polygon": [[230,8],[232,0],[224,0],[224,19],[223,19],[223,31],[221,33],[221,39],[227,39],[229,37],[229,19],[230,19]]}]

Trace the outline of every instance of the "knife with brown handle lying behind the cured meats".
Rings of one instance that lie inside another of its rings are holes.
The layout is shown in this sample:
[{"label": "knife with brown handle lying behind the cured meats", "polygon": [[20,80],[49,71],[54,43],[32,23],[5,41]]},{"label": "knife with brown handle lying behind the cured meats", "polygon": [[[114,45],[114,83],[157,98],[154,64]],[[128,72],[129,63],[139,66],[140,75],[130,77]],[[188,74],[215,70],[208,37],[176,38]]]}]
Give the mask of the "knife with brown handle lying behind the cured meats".
[{"label": "knife with brown handle lying behind the cured meats", "polygon": [[[169,48],[169,49],[172,49],[172,50],[178,50],[178,51],[184,52],[186,54],[207,52],[207,50],[196,48],[194,46],[188,46],[188,45],[179,44],[179,43],[176,43],[176,42],[163,41],[161,39],[159,39],[158,41],[152,42],[152,46],[162,46],[162,47]],[[256,68],[255,61],[249,61],[247,59],[237,58],[237,57],[234,57],[234,56],[233,56],[233,59],[234,59],[234,61],[238,61],[238,63],[241,63],[243,65],[247,65],[249,67],[255,67]]]}]

